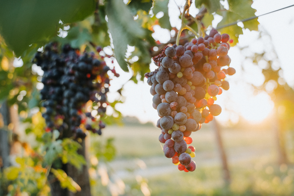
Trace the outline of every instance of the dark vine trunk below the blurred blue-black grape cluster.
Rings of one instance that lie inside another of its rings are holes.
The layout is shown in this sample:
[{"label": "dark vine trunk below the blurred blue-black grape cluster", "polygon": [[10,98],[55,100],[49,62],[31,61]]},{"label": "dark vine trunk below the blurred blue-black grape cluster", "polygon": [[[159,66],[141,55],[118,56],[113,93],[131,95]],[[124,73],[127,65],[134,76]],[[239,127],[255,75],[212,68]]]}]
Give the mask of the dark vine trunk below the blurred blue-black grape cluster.
[{"label": "dark vine trunk below the blurred blue-black grape cluster", "polygon": [[[85,157],[85,139],[83,139],[81,145],[82,149],[78,150],[78,154],[83,155]],[[81,191],[73,193],[67,189],[62,189],[60,187],[60,182],[55,179],[55,176],[52,173],[50,173],[48,176],[48,181],[50,182],[52,196],[91,196],[91,188],[87,165],[84,165],[81,171],[78,171],[76,167],[70,164],[63,165],[62,169],[81,187]]]}]

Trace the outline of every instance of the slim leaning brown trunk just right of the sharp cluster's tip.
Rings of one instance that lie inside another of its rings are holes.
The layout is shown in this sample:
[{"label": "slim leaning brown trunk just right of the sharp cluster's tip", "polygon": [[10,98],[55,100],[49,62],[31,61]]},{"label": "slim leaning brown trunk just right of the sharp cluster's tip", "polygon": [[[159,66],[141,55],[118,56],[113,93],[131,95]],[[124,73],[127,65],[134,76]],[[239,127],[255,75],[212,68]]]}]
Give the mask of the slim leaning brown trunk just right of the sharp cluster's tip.
[{"label": "slim leaning brown trunk just right of the sharp cluster's tip", "polygon": [[218,144],[218,150],[220,152],[220,158],[222,160],[222,165],[223,165],[223,178],[225,180],[225,183],[228,185],[230,184],[231,178],[230,178],[230,171],[228,168],[227,156],[225,154],[225,149],[223,147],[223,141],[221,138],[220,126],[215,119],[213,119],[213,125],[216,131],[216,140]]}]

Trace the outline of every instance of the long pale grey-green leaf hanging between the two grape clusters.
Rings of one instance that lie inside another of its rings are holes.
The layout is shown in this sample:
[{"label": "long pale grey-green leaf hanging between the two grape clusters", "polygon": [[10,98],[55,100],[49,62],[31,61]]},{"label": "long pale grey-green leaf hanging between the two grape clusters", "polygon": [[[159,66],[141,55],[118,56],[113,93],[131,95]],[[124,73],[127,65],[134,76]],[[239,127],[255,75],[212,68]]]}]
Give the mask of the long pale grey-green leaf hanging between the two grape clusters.
[{"label": "long pale grey-green leaf hanging between the two grape clusters", "polygon": [[133,20],[130,10],[123,1],[109,0],[106,5],[106,14],[108,17],[108,28],[113,39],[116,60],[124,71],[128,71],[128,63],[125,61],[127,45],[143,39],[145,32]]}]

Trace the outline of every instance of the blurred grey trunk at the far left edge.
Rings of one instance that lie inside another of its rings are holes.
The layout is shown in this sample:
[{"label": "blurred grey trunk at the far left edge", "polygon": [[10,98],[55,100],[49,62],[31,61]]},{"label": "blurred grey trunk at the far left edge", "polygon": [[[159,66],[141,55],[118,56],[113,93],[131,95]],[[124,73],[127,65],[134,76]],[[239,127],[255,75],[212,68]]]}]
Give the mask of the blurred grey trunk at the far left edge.
[{"label": "blurred grey trunk at the far left edge", "polygon": [[10,114],[9,114],[9,107],[7,102],[3,102],[0,107],[0,113],[3,118],[4,127],[0,127],[0,158],[2,164],[0,167],[9,167],[10,160],[9,160],[9,152],[10,152],[10,145],[9,145],[9,132],[7,126],[10,123]]}]

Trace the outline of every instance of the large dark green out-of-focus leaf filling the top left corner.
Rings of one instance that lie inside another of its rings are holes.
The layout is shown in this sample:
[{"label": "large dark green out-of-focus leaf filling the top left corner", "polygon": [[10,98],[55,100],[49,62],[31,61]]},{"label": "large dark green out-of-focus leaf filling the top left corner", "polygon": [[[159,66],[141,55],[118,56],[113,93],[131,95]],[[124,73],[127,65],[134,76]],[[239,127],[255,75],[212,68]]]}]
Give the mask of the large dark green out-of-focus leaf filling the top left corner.
[{"label": "large dark green out-of-focus leaf filling the top left corner", "polygon": [[33,43],[44,43],[59,31],[59,20],[72,23],[93,13],[95,0],[4,0],[0,3],[0,32],[16,56]]}]

